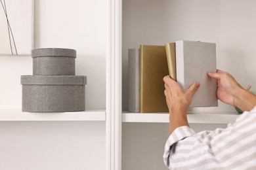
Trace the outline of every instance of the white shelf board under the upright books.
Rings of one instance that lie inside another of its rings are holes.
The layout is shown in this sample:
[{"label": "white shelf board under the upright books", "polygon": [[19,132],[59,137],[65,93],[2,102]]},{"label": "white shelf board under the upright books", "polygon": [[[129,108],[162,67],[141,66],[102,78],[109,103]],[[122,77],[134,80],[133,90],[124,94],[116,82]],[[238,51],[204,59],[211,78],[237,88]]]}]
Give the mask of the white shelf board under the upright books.
[{"label": "white shelf board under the upright books", "polygon": [[[228,124],[236,120],[240,114],[236,112],[188,112],[190,124]],[[134,113],[124,112],[123,122],[148,122],[148,123],[169,123],[169,113]]]}]

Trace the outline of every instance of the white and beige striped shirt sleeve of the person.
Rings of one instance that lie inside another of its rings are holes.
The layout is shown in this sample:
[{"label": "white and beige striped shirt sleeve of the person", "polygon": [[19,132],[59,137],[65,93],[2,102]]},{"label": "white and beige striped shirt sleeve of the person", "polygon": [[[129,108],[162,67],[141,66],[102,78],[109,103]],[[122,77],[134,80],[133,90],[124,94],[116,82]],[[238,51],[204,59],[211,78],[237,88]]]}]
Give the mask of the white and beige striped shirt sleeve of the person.
[{"label": "white and beige striped shirt sleeve of the person", "polygon": [[256,107],[225,129],[195,133],[177,127],[163,154],[169,169],[256,169]]}]

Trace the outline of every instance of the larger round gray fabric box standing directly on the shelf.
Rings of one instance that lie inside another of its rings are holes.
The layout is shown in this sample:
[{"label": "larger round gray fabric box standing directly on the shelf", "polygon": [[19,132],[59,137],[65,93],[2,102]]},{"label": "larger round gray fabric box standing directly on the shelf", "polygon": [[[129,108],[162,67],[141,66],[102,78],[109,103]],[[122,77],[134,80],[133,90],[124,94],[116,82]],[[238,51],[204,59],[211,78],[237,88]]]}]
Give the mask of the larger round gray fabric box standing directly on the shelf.
[{"label": "larger round gray fabric box standing directly on the shelf", "polygon": [[86,76],[21,76],[23,112],[85,110]]}]

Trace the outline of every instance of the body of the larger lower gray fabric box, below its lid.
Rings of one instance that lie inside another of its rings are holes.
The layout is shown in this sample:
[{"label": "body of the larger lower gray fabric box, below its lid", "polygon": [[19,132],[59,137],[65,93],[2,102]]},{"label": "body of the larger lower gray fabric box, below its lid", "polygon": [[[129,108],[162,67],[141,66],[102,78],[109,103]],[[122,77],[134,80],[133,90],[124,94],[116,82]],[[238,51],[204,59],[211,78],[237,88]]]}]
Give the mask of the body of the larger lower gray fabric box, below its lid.
[{"label": "body of the larger lower gray fabric box, below its lid", "polygon": [[85,110],[85,85],[23,85],[22,112]]}]

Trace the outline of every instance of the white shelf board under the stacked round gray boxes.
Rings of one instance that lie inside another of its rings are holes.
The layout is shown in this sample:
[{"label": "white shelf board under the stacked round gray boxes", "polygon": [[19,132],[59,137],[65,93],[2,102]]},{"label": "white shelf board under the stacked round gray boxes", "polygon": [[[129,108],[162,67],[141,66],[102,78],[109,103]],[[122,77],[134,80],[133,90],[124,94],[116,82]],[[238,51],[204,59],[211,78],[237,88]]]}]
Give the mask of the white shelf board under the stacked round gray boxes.
[{"label": "white shelf board under the stacked round gray boxes", "polygon": [[0,121],[105,121],[105,110],[81,112],[22,112],[21,109],[0,110]]}]

